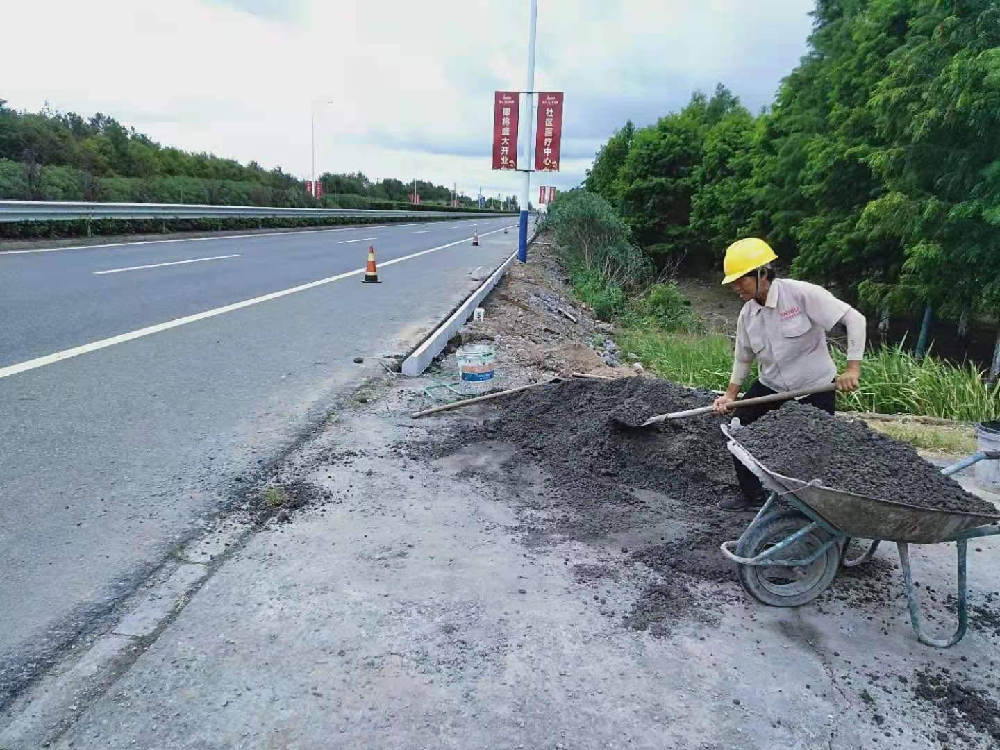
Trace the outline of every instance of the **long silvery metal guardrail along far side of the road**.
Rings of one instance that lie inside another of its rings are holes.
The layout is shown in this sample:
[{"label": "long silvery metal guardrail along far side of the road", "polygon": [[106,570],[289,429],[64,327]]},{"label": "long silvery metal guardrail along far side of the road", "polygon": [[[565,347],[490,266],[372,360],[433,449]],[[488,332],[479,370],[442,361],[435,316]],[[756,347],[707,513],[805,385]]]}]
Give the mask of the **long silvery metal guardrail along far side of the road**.
[{"label": "long silvery metal guardrail along far side of the road", "polygon": [[503,213],[471,211],[376,211],[353,208],[278,208],[262,206],[203,206],[187,203],[86,203],[84,201],[0,201],[0,222],[93,221],[96,219],[270,219],[341,216],[344,218],[416,218],[439,216],[490,218]]}]

